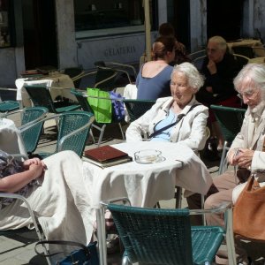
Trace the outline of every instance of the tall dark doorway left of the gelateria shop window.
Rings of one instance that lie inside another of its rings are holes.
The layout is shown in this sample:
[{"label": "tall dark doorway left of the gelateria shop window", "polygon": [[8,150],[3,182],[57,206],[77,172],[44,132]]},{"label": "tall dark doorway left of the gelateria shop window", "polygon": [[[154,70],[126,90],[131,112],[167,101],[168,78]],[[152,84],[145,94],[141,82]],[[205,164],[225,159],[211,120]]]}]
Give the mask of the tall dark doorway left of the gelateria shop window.
[{"label": "tall dark doorway left of the gelateria shop window", "polygon": [[26,69],[57,68],[55,0],[23,0],[22,11]]}]

